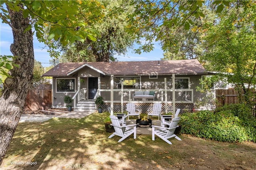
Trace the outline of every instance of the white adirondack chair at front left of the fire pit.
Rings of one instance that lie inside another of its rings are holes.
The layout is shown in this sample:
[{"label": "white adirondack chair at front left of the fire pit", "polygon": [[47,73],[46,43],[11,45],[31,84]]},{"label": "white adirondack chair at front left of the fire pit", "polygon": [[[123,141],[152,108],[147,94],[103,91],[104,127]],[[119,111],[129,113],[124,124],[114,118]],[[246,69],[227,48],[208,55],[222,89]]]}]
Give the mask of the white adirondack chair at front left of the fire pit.
[{"label": "white adirondack chair at front left of the fire pit", "polygon": [[108,137],[108,139],[112,138],[114,135],[117,135],[117,136],[122,137],[118,141],[118,142],[121,142],[124,139],[126,139],[128,136],[132,135],[132,133],[134,134],[133,139],[136,139],[136,126],[137,126],[136,124],[121,126],[119,121],[118,121],[118,118],[116,116],[110,115],[109,117],[110,117],[111,122],[112,122],[111,125],[114,126],[115,132],[112,135],[110,135]]}]

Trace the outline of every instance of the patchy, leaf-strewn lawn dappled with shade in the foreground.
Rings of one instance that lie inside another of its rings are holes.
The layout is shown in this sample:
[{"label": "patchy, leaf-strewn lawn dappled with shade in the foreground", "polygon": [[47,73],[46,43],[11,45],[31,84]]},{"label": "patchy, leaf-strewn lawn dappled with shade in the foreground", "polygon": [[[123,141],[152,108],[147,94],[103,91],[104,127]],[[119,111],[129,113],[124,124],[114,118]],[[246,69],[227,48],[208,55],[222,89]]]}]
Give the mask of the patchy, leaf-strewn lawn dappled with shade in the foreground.
[{"label": "patchy, leaf-strewn lawn dappled with shade in the foreground", "polygon": [[[182,141],[137,134],[118,143],[108,139],[103,119],[93,113],[82,119],[20,123],[1,169],[256,169],[256,144],[220,143],[188,135]],[[30,165],[30,164],[36,165]],[[21,164],[24,165],[14,165]]]}]

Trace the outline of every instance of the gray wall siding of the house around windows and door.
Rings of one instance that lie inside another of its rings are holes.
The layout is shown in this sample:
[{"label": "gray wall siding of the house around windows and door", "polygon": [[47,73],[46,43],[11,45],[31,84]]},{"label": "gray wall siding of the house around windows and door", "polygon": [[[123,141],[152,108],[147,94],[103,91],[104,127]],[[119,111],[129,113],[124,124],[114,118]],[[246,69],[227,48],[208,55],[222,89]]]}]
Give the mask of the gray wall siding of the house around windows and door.
[{"label": "gray wall siding of the house around windows and door", "polygon": [[[72,77],[54,77],[53,78],[53,107],[66,107],[66,104],[64,103],[64,96],[68,95],[70,97],[73,97],[78,90],[78,76],[80,76],[80,80],[83,79],[83,82],[80,82],[80,89],[85,90],[85,100],[88,100],[88,82],[89,82],[89,77],[100,77],[100,81],[104,82],[106,86],[101,89],[110,89],[110,76],[102,76],[95,70],[91,70],[90,68],[84,68],[83,70],[80,70],[77,76],[72,76]],[[117,76],[117,77],[122,77],[122,76]],[[125,77],[125,76],[123,76]],[[135,77],[135,76],[134,76]],[[140,77],[140,88],[143,90],[163,90],[164,89],[164,78],[167,80],[167,89],[172,89],[172,83],[170,82],[171,76],[158,76],[157,78],[151,79],[149,76],[139,76]],[[56,92],[56,80],[62,79],[62,78],[75,78],[75,91],[74,92]],[[193,99],[194,102],[197,98],[202,96],[200,92],[196,92],[196,86],[200,86],[200,79],[201,75],[176,75],[176,78],[188,78],[189,79],[189,85],[188,89],[193,89]],[[117,88],[118,84],[114,84],[114,88]],[[101,94],[103,98],[109,98],[108,93],[103,93]],[[164,96],[160,92],[155,92],[155,101],[160,101],[160,99]],[[78,98],[77,98],[78,99]],[[168,102],[172,102],[172,98],[168,98]],[[74,103],[72,104],[74,106]]]}]

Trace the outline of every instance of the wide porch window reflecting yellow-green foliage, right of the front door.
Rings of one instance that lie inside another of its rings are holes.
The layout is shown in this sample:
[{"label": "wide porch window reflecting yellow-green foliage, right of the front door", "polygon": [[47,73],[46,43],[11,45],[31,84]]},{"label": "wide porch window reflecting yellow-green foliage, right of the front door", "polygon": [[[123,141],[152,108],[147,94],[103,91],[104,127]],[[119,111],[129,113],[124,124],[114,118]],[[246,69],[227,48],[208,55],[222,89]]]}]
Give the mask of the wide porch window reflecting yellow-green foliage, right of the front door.
[{"label": "wide porch window reflecting yellow-green foliage, right of the front door", "polygon": [[122,79],[125,89],[140,89],[140,77],[115,77],[114,88],[121,88]]}]

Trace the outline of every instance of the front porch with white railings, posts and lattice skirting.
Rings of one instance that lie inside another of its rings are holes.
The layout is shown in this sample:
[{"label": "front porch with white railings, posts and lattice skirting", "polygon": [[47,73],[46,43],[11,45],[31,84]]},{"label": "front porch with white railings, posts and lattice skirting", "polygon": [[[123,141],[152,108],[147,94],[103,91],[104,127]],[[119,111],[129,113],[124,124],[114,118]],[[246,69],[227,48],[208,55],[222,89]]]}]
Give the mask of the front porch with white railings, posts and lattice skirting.
[{"label": "front porch with white railings, posts and lattice skirting", "polygon": [[[191,111],[194,106],[193,89],[175,89],[175,74],[172,74],[172,80],[167,81],[167,78],[164,78],[163,89],[127,89],[124,88],[123,80],[120,81],[121,88],[114,89],[114,75],[110,77],[110,89],[101,89],[102,82],[98,77],[98,90],[96,90],[96,94],[93,97],[94,100],[98,96],[103,97],[104,106],[102,107],[104,111],[111,107],[114,112],[124,113],[126,111],[126,103],[135,103],[142,113],[152,109],[154,103],[162,104],[162,113],[175,112],[176,108],[180,108],[182,111]],[[78,82],[80,82],[79,77]],[[172,83],[172,89],[167,88],[170,83]],[[136,94],[149,94],[150,92],[153,97],[148,98],[148,96],[141,95],[139,98],[135,98]],[[73,97],[74,108],[76,108],[78,101],[88,100],[87,93],[88,90],[86,88],[80,89],[80,84],[78,84],[78,91]]]}]

